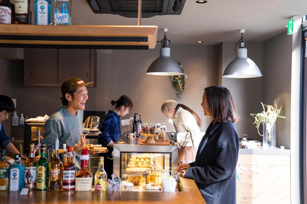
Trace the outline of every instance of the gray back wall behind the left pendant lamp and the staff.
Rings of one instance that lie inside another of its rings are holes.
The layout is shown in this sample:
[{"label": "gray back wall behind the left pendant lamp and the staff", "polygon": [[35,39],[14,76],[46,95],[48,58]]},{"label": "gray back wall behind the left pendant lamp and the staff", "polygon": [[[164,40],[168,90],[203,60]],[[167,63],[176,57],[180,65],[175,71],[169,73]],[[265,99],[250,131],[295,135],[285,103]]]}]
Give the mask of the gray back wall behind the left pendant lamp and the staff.
[{"label": "gray back wall behind the left pendant lamp and the staff", "polygon": [[[159,46],[153,50],[98,51],[97,88],[88,88],[86,110],[108,111],[111,100],[128,95],[133,109],[122,119],[142,113],[143,122],[167,122],[168,131],[173,123],[161,113],[161,104],[167,99],[177,100],[200,115],[200,103],[205,87],[217,84],[218,46],[171,46],[171,57],[182,64],[188,75],[182,98],[177,97],[169,76],[150,76],[145,72],[159,56]],[[29,117],[51,115],[60,108],[60,87],[24,87],[22,61],[13,62],[14,97],[18,113]],[[210,123],[203,117],[201,132]],[[123,130],[123,129],[122,129]]]}]

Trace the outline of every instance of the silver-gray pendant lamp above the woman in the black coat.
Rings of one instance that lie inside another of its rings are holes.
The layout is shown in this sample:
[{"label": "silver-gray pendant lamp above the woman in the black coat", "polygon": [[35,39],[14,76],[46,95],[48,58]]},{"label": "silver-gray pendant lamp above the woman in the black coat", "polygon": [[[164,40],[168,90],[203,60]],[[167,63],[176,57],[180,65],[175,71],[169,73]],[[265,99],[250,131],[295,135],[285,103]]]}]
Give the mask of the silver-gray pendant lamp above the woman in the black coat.
[{"label": "silver-gray pendant lamp above the woman in the black coat", "polygon": [[[253,77],[262,76],[255,62],[247,57],[247,49],[244,48],[244,39],[243,39],[244,29],[240,30],[240,33],[241,33],[241,39],[238,41],[238,43],[241,41],[240,48],[238,50],[235,49],[237,56],[226,67],[223,73],[223,77],[253,78]],[[237,46],[237,44],[235,45],[235,47]]]}]

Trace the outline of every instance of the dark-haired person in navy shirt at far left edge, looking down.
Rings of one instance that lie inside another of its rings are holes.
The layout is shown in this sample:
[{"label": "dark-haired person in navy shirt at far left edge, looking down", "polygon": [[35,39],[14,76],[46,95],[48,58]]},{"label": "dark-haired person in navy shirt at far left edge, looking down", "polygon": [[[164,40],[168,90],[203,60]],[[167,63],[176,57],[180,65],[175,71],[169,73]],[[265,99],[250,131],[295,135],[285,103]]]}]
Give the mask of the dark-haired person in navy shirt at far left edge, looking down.
[{"label": "dark-haired person in navy shirt at far left edge, looking down", "polygon": [[[0,95],[0,146],[2,149],[6,150],[7,154],[13,155],[20,154],[20,152],[7,137],[2,123],[9,119],[9,115],[11,112],[13,112],[14,108],[14,102],[10,97]],[[10,160],[12,158],[7,156],[6,159]],[[21,154],[21,159],[27,159],[27,157]]]}]

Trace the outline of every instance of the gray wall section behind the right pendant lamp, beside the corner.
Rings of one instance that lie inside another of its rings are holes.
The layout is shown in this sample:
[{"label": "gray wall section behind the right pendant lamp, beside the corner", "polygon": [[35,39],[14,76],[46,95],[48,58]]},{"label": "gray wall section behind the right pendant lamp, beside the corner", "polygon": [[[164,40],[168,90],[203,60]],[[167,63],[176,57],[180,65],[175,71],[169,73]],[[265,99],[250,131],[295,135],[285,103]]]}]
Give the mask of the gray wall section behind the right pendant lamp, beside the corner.
[{"label": "gray wall section behind the right pendant lamp, beside the corner", "polygon": [[[253,60],[263,73],[263,43],[245,43],[247,57]],[[236,57],[235,43],[222,43],[222,74],[227,65]],[[239,138],[246,134],[248,138],[262,141],[255,128],[254,118],[250,113],[262,110],[263,77],[235,79],[222,77],[222,86],[227,87],[235,102],[240,120],[235,123]]]}]

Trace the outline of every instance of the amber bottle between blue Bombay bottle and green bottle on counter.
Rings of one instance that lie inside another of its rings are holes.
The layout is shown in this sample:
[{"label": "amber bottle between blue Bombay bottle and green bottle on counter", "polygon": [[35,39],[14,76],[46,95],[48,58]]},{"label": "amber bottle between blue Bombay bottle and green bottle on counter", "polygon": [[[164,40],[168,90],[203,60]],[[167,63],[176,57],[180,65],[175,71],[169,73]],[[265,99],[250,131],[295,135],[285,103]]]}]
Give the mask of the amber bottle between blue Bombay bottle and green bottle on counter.
[{"label": "amber bottle between blue Bombay bottle and green bottle on counter", "polygon": [[37,159],[34,155],[34,143],[30,143],[29,157],[25,160],[25,188],[29,191],[36,189],[36,163]]}]

